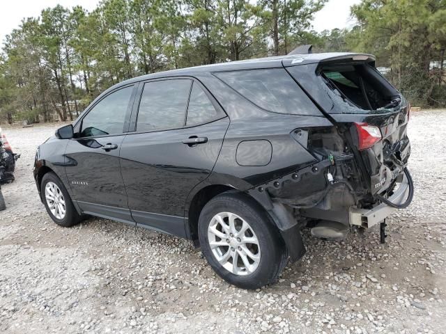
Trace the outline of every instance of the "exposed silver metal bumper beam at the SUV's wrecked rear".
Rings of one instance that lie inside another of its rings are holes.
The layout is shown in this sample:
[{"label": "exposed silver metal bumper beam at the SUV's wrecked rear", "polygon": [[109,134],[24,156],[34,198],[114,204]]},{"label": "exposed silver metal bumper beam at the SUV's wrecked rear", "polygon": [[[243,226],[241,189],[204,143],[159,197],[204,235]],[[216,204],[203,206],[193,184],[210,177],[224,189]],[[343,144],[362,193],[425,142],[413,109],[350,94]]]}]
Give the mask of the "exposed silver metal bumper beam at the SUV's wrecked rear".
[{"label": "exposed silver metal bumper beam at the SUV's wrecked rear", "polygon": [[[406,175],[403,176],[399,188],[393,193],[388,200],[392,203],[400,205],[406,201],[409,192],[409,183]],[[356,209],[349,210],[350,224],[358,225],[362,228],[371,228],[372,226],[381,223],[387,216],[390,216],[397,208],[390,207],[385,203],[377,205],[373,209]]]}]

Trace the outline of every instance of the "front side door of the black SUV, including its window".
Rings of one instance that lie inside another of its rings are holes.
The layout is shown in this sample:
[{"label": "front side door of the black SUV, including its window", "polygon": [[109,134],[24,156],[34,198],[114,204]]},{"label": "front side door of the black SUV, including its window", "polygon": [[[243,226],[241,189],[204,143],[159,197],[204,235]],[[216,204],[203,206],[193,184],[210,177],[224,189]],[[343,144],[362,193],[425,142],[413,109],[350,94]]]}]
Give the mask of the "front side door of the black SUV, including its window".
[{"label": "front side door of the black SUV, including its window", "polygon": [[125,138],[134,86],[115,90],[96,103],[77,138],[66,148],[66,175],[82,211],[132,221],[121,175],[119,151]]}]

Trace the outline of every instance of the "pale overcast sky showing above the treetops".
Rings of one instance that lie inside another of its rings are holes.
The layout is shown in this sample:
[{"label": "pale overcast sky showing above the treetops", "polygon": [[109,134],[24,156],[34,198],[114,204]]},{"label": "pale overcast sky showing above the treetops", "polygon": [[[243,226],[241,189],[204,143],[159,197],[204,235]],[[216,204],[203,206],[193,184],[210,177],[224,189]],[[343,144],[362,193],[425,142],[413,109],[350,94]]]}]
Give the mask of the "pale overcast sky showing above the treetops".
[{"label": "pale overcast sky showing above the treetops", "polygon": [[[54,7],[58,3],[64,7],[82,6],[93,10],[99,0],[7,0],[1,1],[0,44],[13,29],[20,25],[24,17],[37,17],[43,8]],[[316,31],[345,28],[351,26],[350,6],[360,0],[329,0],[325,7],[316,13],[313,28]]]}]

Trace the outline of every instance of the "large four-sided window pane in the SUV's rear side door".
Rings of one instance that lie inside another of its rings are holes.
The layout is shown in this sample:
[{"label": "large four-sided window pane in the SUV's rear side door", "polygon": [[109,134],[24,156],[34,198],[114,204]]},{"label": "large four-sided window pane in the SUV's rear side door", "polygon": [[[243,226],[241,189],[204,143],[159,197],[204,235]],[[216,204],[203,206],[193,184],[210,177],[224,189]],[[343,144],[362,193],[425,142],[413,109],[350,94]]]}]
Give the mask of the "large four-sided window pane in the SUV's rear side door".
[{"label": "large four-sided window pane in the SUV's rear side door", "polygon": [[139,102],[137,132],[183,127],[191,84],[189,79],[146,82]]}]

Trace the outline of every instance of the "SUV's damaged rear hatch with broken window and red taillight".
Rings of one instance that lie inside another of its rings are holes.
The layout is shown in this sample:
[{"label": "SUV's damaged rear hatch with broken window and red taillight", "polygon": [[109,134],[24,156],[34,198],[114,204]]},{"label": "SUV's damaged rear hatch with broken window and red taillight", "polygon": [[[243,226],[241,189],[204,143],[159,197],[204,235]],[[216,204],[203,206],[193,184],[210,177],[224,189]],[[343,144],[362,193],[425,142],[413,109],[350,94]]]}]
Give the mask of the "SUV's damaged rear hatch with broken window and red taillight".
[{"label": "SUV's damaged rear hatch with broken window and red taillight", "polygon": [[283,65],[346,138],[369,191],[392,189],[410,155],[410,106],[376,70],[373,56],[302,56]]}]

